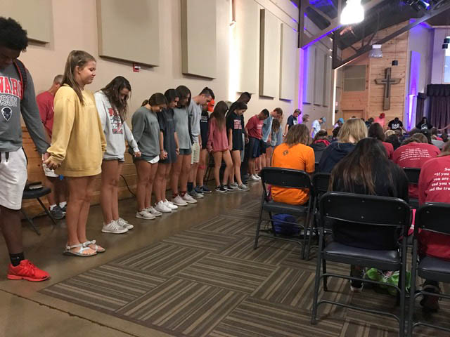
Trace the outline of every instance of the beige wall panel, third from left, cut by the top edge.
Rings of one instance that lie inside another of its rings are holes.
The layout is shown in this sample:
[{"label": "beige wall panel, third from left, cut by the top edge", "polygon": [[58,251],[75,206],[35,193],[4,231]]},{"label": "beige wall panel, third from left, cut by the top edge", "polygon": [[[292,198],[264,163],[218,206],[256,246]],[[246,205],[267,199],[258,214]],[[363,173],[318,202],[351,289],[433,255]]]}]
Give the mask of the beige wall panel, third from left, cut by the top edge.
[{"label": "beige wall panel, third from left, cut by the top edge", "polygon": [[[199,13],[202,13],[199,20]],[[183,74],[217,76],[216,0],[181,0],[181,70]]]}]

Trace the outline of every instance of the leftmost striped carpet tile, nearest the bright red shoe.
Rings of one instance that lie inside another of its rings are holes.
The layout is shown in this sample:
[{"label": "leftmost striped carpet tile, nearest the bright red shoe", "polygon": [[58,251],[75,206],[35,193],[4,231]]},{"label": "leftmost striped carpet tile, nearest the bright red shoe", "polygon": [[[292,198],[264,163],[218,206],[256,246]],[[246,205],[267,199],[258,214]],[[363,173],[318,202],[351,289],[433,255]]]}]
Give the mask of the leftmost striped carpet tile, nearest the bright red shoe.
[{"label": "leftmost striped carpet tile, nearest the bright red shoe", "polygon": [[103,312],[113,312],[165,280],[165,277],[149,272],[102,265],[41,292]]}]

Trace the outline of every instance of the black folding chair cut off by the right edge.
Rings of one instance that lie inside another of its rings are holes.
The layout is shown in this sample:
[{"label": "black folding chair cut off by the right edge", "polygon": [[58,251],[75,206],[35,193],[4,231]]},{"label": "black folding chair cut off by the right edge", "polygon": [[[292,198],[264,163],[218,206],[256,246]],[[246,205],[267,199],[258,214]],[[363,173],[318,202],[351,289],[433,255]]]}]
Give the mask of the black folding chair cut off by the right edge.
[{"label": "black folding chair cut off by the right edge", "polygon": [[421,258],[420,263],[418,263],[419,230],[448,235],[450,241],[449,219],[450,204],[425,204],[421,206],[416,213],[413,237],[413,265],[411,268],[411,294],[414,294],[414,296],[410,296],[409,299],[408,336],[413,336],[413,329],[420,325],[450,332],[450,329],[444,328],[443,326],[428,324],[426,322],[413,322],[414,303],[418,296],[437,296],[439,298],[450,300],[450,295],[442,293],[438,294],[428,291],[418,291],[416,293],[417,276],[429,281],[450,283],[450,261],[425,256]]}]

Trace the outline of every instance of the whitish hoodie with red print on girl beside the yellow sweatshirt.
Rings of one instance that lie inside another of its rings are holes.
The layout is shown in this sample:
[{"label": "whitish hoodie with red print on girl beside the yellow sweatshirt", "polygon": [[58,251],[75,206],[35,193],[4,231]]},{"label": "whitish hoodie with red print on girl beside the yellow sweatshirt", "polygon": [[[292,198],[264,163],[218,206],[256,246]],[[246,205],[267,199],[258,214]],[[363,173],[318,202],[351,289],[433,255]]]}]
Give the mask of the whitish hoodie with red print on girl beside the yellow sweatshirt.
[{"label": "whitish hoodie with red print on girl beside the yellow sweatshirt", "polygon": [[125,140],[133,149],[133,152],[139,152],[138,144],[134,140],[127,123],[122,123],[120,114],[113,109],[108,97],[103,91],[94,93],[98,115],[100,116],[101,126],[106,138],[106,152],[103,159],[124,159]]}]

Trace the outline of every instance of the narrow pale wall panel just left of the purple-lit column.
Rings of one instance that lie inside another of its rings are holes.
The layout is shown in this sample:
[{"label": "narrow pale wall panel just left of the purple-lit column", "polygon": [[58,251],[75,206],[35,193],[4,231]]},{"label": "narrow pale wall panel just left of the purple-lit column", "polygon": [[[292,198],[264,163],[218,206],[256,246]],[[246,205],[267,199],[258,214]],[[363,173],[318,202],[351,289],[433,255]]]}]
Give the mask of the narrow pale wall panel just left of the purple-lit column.
[{"label": "narrow pale wall panel just left of the purple-lit column", "polygon": [[295,56],[297,33],[288,25],[281,24],[280,99],[293,100],[295,93]]}]

